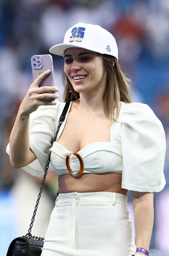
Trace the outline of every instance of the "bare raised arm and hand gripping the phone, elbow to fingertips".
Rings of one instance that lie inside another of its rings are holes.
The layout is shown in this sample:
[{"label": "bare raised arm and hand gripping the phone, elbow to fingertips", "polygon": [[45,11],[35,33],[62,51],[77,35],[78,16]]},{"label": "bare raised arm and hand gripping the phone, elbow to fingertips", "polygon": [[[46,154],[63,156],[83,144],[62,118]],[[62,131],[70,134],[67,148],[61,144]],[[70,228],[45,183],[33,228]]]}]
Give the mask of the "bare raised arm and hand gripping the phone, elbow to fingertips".
[{"label": "bare raised arm and hand gripping the phone, elbow to fingertips", "polygon": [[[17,118],[9,139],[10,143],[10,161],[14,168],[21,168],[28,165],[36,159],[35,154],[29,148],[29,115],[37,110],[40,105],[55,105],[56,102],[43,101],[51,98],[49,86],[38,87],[41,80],[49,75],[51,71],[45,71],[29,87],[28,93],[23,99],[18,110]],[[50,87],[53,91],[52,98],[57,99],[58,88]]]}]

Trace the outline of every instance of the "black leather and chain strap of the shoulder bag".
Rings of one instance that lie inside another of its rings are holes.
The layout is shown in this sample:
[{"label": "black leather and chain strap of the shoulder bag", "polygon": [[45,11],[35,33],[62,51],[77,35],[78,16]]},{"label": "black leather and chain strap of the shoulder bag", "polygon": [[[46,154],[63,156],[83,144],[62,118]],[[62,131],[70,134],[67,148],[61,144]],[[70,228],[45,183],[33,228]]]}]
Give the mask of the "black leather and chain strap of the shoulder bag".
[{"label": "black leather and chain strap of the shoulder bag", "polygon": [[[54,137],[54,141],[56,141],[58,132],[59,132],[59,130],[60,130],[60,127],[61,127],[61,125],[63,124],[63,122],[65,121],[65,116],[66,116],[66,113],[68,112],[68,108],[69,108],[70,102],[71,102],[71,92],[68,93],[68,100],[66,101],[65,107],[64,107],[64,109],[63,109],[63,112],[61,113],[61,116],[60,116],[60,118],[59,118],[59,124],[58,124],[57,131],[56,131],[56,134],[55,134],[55,137]],[[54,141],[53,141],[53,142],[54,142]],[[51,152],[49,153],[48,162],[47,162],[47,164],[46,164],[46,168],[45,168],[43,180],[42,180],[42,182],[41,182],[41,186],[40,186],[38,198],[37,198],[37,201],[36,201],[36,204],[35,204],[33,216],[32,216],[31,223],[30,223],[29,229],[28,229],[28,233],[25,235],[25,237],[28,237],[28,238],[34,238],[34,239],[38,239],[38,240],[44,240],[43,237],[32,236],[31,231],[32,231],[32,227],[33,227],[33,224],[34,224],[35,215],[36,215],[36,212],[37,212],[37,209],[38,209],[39,201],[40,201],[40,198],[41,198],[41,193],[42,193],[42,190],[43,190],[43,187],[44,187],[44,184],[45,184],[46,175],[47,175],[47,173],[48,173],[49,163],[50,163],[50,162],[51,162]]]}]

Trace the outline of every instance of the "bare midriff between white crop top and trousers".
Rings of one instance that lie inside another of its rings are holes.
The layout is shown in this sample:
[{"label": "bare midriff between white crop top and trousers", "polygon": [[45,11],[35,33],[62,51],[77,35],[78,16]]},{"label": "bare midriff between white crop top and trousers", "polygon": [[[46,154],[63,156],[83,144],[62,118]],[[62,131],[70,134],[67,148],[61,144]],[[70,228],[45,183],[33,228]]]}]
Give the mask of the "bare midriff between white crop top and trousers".
[{"label": "bare midriff between white crop top and trousers", "polygon": [[71,174],[58,176],[58,192],[115,192],[127,195],[128,190],[121,188],[122,174],[120,173],[101,173],[82,174],[80,177],[74,177]]}]

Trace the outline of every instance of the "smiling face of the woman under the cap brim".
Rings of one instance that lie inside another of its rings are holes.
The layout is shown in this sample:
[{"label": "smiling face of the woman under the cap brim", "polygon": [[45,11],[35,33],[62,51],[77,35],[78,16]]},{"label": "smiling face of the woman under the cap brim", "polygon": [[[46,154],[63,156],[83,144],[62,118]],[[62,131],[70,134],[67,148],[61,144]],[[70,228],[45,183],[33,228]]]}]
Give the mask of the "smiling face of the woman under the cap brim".
[{"label": "smiling face of the woman under the cap brim", "polygon": [[106,71],[99,53],[81,48],[66,49],[64,71],[78,93],[103,92]]}]

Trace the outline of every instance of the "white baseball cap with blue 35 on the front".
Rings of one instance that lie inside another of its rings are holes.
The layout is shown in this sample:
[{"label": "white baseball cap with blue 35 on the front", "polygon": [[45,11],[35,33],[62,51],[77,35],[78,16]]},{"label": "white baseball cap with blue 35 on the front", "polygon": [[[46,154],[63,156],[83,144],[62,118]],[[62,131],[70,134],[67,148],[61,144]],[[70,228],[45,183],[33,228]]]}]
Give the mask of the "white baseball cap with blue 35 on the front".
[{"label": "white baseball cap with blue 35 on the front", "polygon": [[118,60],[118,48],[114,36],[98,25],[85,23],[74,25],[66,31],[63,44],[52,46],[49,52],[61,56],[71,47],[112,55]]}]

